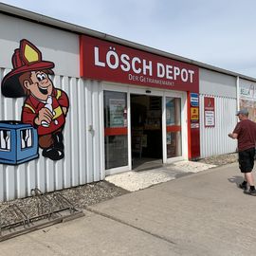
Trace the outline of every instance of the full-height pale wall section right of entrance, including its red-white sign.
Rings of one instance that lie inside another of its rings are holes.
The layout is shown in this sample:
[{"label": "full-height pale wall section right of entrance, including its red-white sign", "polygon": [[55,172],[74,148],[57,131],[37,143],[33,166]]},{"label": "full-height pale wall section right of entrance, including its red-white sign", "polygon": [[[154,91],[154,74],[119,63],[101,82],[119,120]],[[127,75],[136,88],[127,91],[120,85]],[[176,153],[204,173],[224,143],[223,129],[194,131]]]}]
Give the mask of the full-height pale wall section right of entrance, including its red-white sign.
[{"label": "full-height pale wall section right of entrance, including its red-white sign", "polygon": [[237,141],[227,135],[238,120],[239,78],[220,71],[199,69],[201,157],[236,151]]}]

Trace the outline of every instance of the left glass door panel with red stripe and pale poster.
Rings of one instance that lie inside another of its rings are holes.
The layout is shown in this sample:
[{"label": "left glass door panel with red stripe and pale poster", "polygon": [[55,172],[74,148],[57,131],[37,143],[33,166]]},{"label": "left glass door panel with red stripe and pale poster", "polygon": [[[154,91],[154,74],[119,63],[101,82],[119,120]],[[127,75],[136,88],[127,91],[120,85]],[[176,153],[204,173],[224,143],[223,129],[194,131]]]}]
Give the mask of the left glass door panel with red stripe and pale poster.
[{"label": "left glass door panel with red stripe and pale poster", "polygon": [[104,91],[105,169],[128,165],[127,94]]}]

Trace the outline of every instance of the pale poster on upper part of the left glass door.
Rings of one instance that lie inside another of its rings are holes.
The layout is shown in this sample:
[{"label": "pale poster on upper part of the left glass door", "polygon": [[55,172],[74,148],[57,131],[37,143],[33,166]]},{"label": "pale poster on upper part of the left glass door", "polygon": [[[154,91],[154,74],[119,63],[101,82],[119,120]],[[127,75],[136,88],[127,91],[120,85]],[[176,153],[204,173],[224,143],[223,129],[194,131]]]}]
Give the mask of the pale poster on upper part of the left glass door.
[{"label": "pale poster on upper part of the left glass door", "polygon": [[110,127],[123,127],[125,100],[109,99]]}]

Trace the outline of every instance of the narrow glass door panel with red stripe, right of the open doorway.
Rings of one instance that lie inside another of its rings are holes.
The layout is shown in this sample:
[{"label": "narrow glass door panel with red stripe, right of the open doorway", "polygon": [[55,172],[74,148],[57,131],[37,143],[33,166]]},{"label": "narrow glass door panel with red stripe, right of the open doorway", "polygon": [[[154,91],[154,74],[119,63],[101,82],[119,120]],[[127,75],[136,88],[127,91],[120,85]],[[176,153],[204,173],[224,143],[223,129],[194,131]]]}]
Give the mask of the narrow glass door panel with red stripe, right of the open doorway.
[{"label": "narrow glass door panel with red stripe, right of the open doorway", "polygon": [[166,98],[166,150],[167,158],[182,155],[181,99]]}]

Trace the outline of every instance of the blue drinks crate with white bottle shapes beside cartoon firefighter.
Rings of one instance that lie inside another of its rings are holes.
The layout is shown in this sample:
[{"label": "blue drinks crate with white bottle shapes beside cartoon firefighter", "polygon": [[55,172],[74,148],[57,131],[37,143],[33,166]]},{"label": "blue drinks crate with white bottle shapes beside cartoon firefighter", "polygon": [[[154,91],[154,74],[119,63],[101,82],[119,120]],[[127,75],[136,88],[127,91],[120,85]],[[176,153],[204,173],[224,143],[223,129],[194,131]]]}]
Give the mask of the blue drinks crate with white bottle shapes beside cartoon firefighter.
[{"label": "blue drinks crate with white bottle shapes beside cartoon firefighter", "polygon": [[17,165],[38,156],[35,128],[16,120],[0,121],[0,163]]}]

